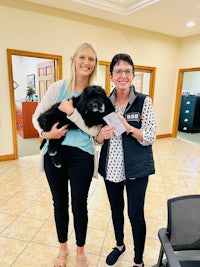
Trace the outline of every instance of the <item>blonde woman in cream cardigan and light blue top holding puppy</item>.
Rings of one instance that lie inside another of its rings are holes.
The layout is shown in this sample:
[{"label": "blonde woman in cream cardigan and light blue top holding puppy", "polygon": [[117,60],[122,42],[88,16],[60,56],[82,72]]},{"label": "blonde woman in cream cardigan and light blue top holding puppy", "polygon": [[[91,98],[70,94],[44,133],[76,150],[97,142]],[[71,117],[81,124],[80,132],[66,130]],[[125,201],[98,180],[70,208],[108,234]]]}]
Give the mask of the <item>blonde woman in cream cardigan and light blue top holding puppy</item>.
[{"label": "blonde woman in cream cardigan and light blue top holding puppy", "polygon": [[[87,198],[90,183],[94,172],[94,145],[93,138],[100,131],[100,127],[88,128],[72,102],[68,98],[78,96],[88,85],[94,83],[97,73],[97,54],[91,44],[83,43],[74,52],[71,58],[69,78],[53,83],[39,103],[34,115],[33,125],[40,136],[47,139],[44,153],[44,170],[53,198],[53,208],[58,241],[59,253],[54,267],[65,267],[68,249],[69,225],[69,188],[73,213],[74,230],[76,237],[77,267],[86,267],[84,245],[88,224]],[[67,129],[67,125],[57,128],[54,124],[49,132],[44,132],[38,124],[39,115],[49,109],[56,102],[60,102],[59,109],[75,122],[79,129]],[[56,168],[48,155],[48,139],[61,138],[62,167]],[[69,183],[68,183],[69,182]]]}]

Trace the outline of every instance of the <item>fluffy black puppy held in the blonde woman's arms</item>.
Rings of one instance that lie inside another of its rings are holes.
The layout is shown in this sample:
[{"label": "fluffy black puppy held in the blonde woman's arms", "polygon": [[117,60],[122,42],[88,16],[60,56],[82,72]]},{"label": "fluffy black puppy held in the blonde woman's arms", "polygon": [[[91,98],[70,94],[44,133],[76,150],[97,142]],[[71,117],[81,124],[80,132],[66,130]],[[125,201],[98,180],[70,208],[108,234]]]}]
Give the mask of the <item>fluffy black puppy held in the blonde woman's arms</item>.
[{"label": "fluffy black puppy held in the blonde woman's arms", "polygon": [[[105,125],[103,117],[114,111],[110,99],[101,86],[87,86],[80,96],[73,97],[72,100],[73,106],[77,108],[88,127],[99,124]],[[68,129],[78,128],[76,124],[67,118],[66,113],[58,109],[59,105],[60,103],[56,103],[49,110],[40,114],[38,122],[45,132],[50,131],[56,122],[59,122],[58,128],[66,124],[69,124]],[[63,139],[64,136],[60,139],[49,140],[48,153],[53,164],[58,168],[62,166],[60,146]],[[40,148],[43,147],[45,142],[46,140],[43,140]]]}]

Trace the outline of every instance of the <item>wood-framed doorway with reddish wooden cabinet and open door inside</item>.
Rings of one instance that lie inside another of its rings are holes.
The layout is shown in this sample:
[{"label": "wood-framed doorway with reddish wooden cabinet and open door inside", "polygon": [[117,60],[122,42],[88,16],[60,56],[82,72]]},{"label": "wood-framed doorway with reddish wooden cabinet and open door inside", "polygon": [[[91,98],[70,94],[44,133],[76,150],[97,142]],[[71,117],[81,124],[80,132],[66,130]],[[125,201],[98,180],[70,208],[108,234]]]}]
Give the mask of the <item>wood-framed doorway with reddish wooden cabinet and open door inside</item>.
[{"label": "wood-framed doorway with reddish wooden cabinet and open door inside", "polygon": [[[43,75],[43,92],[50,83],[62,78],[62,57],[58,55],[7,49],[14,158],[39,153],[39,136],[32,126],[32,113],[41,98],[39,67],[53,63],[53,75]],[[46,68],[49,70],[49,68]],[[52,73],[52,71],[51,71]],[[49,77],[51,76],[51,79]],[[45,80],[45,77],[48,79]],[[52,78],[53,77],[53,78]],[[45,80],[45,81],[44,81]],[[30,87],[31,86],[31,87]],[[28,89],[34,91],[27,100]]]}]

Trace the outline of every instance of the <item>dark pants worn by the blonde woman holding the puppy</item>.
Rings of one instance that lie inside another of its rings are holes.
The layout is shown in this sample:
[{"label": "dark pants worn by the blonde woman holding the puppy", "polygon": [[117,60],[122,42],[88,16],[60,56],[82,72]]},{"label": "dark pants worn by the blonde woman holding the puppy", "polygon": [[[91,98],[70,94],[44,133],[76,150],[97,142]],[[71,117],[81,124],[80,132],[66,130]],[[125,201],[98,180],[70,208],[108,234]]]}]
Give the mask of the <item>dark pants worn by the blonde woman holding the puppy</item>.
[{"label": "dark pants worn by the blonde woman holding the puppy", "polygon": [[56,168],[48,153],[45,154],[44,168],[53,197],[58,241],[64,243],[68,240],[70,183],[76,244],[81,247],[86,240],[87,197],[94,171],[94,156],[76,147],[62,146],[62,164],[61,168]]}]

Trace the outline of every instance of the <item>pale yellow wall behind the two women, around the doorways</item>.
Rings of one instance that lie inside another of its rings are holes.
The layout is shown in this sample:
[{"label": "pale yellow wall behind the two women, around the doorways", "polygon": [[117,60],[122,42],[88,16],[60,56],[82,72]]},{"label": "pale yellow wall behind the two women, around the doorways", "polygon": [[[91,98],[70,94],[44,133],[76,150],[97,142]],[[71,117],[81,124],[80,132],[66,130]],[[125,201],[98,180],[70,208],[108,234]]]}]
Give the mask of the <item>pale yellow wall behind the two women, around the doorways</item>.
[{"label": "pale yellow wall behind the two women, around the doorways", "polygon": [[[197,56],[195,51],[199,50],[200,37],[180,41],[53,9],[45,15],[41,7],[29,6],[34,11],[0,5],[0,98],[3,100],[0,105],[0,156],[13,153],[7,48],[61,55],[63,77],[67,74],[73,49],[80,42],[91,42],[99,60],[110,61],[115,53],[129,53],[136,65],[156,67],[157,134],[172,133],[178,69],[179,66],[198,65],[200,54]],[[190,55],[185,56],[188,51]]]}]

